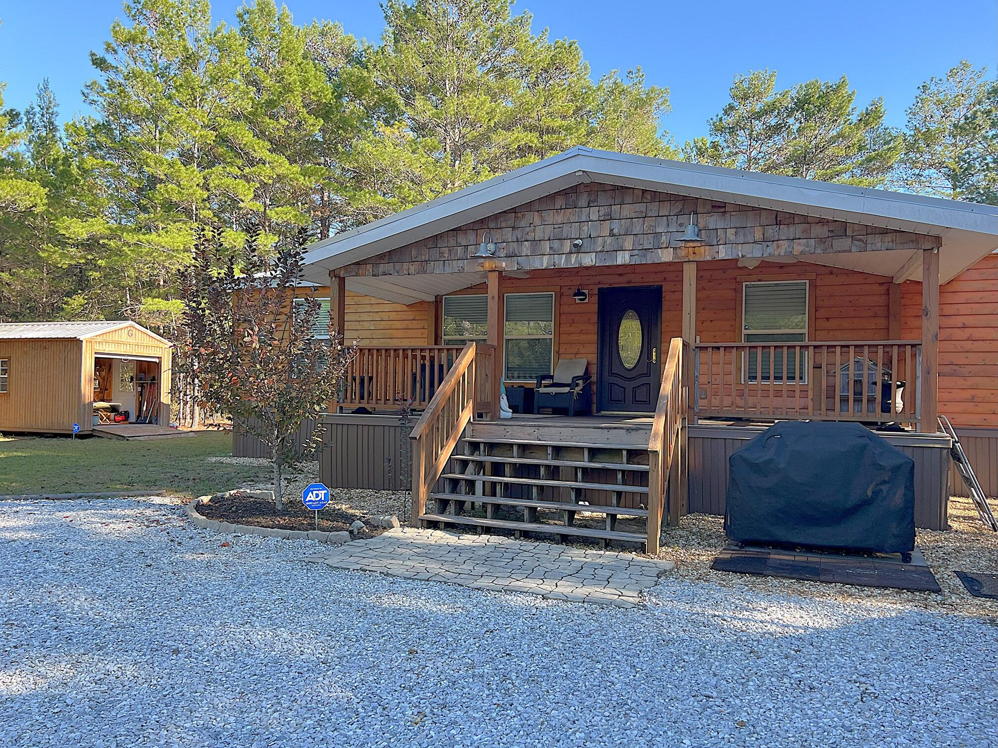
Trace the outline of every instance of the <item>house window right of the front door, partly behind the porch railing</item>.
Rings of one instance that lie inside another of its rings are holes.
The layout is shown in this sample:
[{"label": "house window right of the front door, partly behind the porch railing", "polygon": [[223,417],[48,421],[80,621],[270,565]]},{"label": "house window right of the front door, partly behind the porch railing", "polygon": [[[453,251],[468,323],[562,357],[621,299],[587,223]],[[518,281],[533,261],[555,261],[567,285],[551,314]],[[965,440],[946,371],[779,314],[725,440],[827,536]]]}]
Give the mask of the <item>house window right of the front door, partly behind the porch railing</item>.
[{"label": "house window right of the front door, partly behind the porch railing", "polygon": [[[749,382],[783,382],[785,364],[787,382],[804,383],[807,376],[807,354],[799,356],[787,349],[784,362],[779,344],[807,340],[807,281],[753,281],[743,285],[742,341],[773,343],[771,361],[767,347],[749,349]],[[759,360],[761,359],[761,360]],[[761,375],[761,379],[759,379]]]}]

